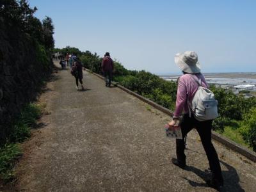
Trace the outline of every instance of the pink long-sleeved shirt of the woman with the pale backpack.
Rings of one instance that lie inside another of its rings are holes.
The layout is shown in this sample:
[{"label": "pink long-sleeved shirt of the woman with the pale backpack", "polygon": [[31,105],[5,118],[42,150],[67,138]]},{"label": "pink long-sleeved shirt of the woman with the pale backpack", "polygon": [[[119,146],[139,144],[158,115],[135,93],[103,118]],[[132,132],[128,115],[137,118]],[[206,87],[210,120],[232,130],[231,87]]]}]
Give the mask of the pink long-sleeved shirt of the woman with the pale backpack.
[{"label": "pink long-sleeved shirt of the woman with the pale backpack", "polygon": [[[193,76],[201,79],[202,86],[208,88],[208,84],[206,83],[205,77],[202,74],[193,74]],[[191,103],[197,88],[198,83],[196,83],[191,75],[184,74],[183,76],[180,76],[177,90],[176,106],[173,117],[179,118],[182,115],[182,111],[184,111],[184,114],[189,112],[187,97],[189,103]]]}]

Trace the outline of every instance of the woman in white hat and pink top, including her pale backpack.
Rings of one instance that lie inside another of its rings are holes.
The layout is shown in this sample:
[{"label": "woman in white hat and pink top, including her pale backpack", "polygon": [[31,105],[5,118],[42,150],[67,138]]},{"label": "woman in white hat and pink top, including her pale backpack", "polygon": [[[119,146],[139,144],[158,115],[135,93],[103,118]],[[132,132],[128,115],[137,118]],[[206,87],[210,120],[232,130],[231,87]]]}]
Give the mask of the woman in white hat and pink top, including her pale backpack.
[{"label": "woman in white hat and pink top, including her pale backpack", "polygon": [[212,173],[212,179],[208,180],[207,184],[220,189],[223,187],[220,160],[211,141],[212,120],[218,116],[218,102],[214,100],[213,93],[207,89],[208,84],[200,72],[196,52],[186,51],[176,54],[175,63],[182,70],[183,75],[179,77],[175,111],[169,126],[173,127],[180,120],[182,140],[176,140],[177,159],[172,158],[172,163],[180,168],[186,167],[184,138],[195,128],[202,141]]}]

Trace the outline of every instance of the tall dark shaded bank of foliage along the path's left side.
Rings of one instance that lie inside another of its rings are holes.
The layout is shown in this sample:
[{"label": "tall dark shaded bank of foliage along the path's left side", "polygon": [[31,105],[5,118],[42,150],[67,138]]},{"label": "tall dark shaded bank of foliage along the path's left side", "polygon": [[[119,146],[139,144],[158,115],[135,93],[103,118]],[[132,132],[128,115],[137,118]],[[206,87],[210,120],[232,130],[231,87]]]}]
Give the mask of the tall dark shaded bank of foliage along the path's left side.
[{"label": "tall dark shaded bank of foliage along the path's left side", "polygon": [[13,178],[12,167],[22,154],[19,143],[30,136],[40,116],[36,99],[51,74],[54,26],[42,22],[26,0],[0,4],[0,179]]}]

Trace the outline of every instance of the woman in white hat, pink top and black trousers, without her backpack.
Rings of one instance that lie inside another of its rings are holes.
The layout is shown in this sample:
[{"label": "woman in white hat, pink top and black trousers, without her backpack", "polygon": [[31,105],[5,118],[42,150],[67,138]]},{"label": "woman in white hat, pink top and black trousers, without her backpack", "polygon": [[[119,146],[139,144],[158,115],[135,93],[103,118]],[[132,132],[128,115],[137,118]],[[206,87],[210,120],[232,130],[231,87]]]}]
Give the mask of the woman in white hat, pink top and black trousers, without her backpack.
[{"label": "woman in white hat, pink top and black trousers, without her backpack", "polygon": [[[201,138],[212,172],[212,179],[207,181],[207,184],[214,188],[221,188],[223,186],[223,177],[221,174],[220,161],[211,141],[212,120],[198,121],[193,114],[189,113],[188,102],[191,103],[198,88],[198,83],[196,83],[193,78],[201,79],[202,86],[208,88],[205,77],[200,72],[198,56],[196,52],[186,51],[181,54],[176,54],[174,60],[182,70],[183,75],[179,78],[175,111],[173,120],[169,125],[172,127],[176,124],[177,120],[180,120],[182,140],[176,140],[177,159],[173,158],[172,163],[180,168],[186,167],[184,137],[191,129],[195,128]],[[191,77],[191,74],[194,77]],[[182,111],[184,112],[183,115]]]}]

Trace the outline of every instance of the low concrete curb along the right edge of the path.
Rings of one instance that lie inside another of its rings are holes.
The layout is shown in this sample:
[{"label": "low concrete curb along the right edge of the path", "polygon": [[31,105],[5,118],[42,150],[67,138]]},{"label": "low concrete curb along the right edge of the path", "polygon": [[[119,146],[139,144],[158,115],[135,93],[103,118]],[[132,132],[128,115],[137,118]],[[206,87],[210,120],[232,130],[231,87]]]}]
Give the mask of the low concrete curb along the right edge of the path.
[{"label": "low concrete curb along the right edge of the path", "polygon": [[[84,69],[88,72],[90,70]],[[100,76],[99,74],[92,73],[95,76],[99,77],[100,79],[105,79],[103,76]],[[118,88],[124,90],[125,92],[133,95],[134,97],[137,97],[140,100],[143,100],[143,102],[146,102],[150,106],[153,106],[156,109],[159,109],[159,111],[162,111],[163,113],[166,113],[167,115],[173,116],[173,112],[170,111],[167,108],[164,108],[163,106],[160,106],[159,104],[156,104],[156,102],[153,102],[152,100],[149,100],[138,93],[132,92],[131,90],[128,90],[124,86],[121,86],[120,84],[117,83],[112,83],[113,85],[117,86]],[[247,157],[248,159],[252,160],[253,162],[256,162],[256,153],[253,151],[248,150],[247,148],[235,143],[234,141],[229,140],[228,138],[225,138],[221,134],[218,134],[218,132],[212,131],[212,139],[218,141],[219,143],[225,145],[226,147],[238,152],[239,154],[243,155],[244,157]]]}]

